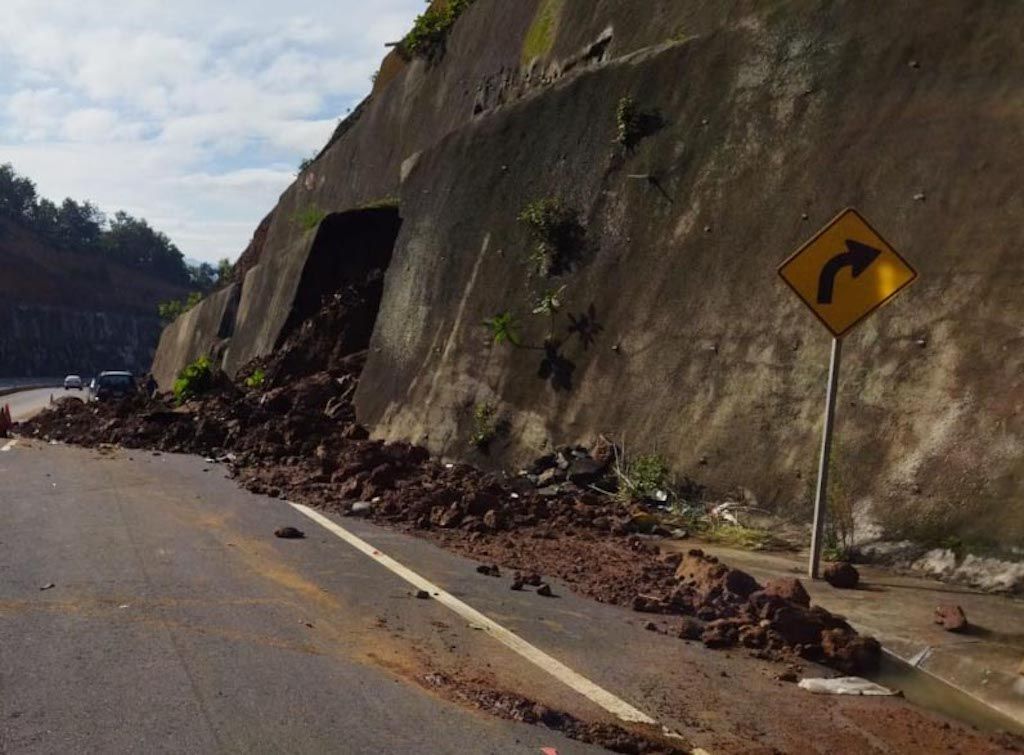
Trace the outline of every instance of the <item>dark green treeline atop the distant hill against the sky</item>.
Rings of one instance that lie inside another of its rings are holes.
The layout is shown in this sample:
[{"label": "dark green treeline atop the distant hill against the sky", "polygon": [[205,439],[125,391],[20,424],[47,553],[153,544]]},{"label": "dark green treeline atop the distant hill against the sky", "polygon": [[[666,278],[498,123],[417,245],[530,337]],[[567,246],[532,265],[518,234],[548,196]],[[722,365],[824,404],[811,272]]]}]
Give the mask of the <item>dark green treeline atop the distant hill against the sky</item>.
[{"label": "dark green treeline atop the distant hill against the sky", "polygon": [[57,249],[103,256],[128,267],[144,270],[168,283],[209,291],[230,269],[188,265],[184,255],[142,218],[127,212],[106,216],[91,202],[68,198],[59,205],[36,194],[36,184],[18,175],[9,164],[0,165],[0,217],[32,228]]}]

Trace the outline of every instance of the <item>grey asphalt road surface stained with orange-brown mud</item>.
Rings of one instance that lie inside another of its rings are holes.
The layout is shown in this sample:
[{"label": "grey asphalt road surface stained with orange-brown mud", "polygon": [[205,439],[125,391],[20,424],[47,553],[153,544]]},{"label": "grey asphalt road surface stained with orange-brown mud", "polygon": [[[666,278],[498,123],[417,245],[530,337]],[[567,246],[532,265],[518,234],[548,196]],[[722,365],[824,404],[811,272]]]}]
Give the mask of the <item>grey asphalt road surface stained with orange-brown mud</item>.
[{"label": "grey asphalt road surface stained with orange-brown mud", "polygon": [[[423,540],[330,517],[361,552],[194,457],[20,439],[0,453],[0,511],[3,753],[600,751],[431,683],[445,678],[614,722],[598,689],[712,753],[937,751],[967,736],[895,699],[811,696],[777,664],[643,628],[669,620],[557,584],[553,598],[513,592],[508,575]],[[283,526],[307,537],[274,538]],[[380,553],[548,661],[440,593],[416,597]]]}]

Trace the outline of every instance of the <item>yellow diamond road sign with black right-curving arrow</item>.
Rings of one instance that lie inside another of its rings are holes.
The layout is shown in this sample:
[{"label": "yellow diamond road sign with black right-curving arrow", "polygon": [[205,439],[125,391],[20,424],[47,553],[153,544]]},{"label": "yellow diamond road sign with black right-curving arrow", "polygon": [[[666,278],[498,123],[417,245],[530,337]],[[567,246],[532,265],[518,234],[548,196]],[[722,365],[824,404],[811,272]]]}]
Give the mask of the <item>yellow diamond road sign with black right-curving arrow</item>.
[{"label": "yellow diamond road sign with black right-curving arrow", "polygon": [[837,338],[918,277],[854,209],[841,212],[778,274]]}]

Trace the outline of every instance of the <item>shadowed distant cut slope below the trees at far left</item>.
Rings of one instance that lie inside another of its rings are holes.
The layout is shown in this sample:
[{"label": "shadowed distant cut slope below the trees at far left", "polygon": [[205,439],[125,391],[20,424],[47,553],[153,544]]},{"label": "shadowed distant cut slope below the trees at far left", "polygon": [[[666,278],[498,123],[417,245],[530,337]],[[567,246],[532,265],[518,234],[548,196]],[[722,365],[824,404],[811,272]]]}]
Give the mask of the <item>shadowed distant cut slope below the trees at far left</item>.
[{"label": "shadowed distant cut slope below the trees at far left", "polygon": [[0,377],[142,373],[160,338],[157,304],[182,293],[0,220]]}]

